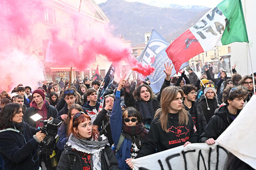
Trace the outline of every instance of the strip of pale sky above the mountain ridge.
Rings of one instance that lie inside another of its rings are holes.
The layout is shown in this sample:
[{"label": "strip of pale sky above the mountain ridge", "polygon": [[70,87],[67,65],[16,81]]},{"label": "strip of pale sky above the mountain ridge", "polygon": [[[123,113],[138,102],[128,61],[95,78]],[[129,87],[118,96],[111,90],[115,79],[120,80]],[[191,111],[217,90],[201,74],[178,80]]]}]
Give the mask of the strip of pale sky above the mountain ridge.
[{"label": "strip of pale sky above the mountain ridge", "polygon": [[[98,4],[106,2],[106,0],[94,0],[94,1]],[[136,2],[137,0],[125,0],[125,1]],[[140,2],[142,1],[147,1],[147,0],[140,0]],[[205,6],[205,7],[213,8],[217,6],[217,4],[222,0],[162,0],[162,1],[166,1],[166,2],[168,1],[169,3],[178,4],[181,6],[193,5],[193,6]]]}]

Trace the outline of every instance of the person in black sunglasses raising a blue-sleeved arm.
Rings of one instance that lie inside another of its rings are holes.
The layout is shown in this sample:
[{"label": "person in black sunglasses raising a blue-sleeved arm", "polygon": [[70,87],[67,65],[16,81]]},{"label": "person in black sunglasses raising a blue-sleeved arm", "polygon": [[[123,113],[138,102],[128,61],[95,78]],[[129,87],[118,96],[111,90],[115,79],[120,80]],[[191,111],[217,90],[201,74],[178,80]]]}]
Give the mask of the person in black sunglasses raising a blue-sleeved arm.
[{"label": "person in black sunglasses raising a blue-sleeved arm", "polygon": [[141,123],[142,118],[139,111],[129,107],[122,113],[120,91],[125,82],[124,79],[119,82],[110,116],[112,138],[120,169],[130,169],[125,160],[137,156],[147,135],[147,130],[144,124]]}]

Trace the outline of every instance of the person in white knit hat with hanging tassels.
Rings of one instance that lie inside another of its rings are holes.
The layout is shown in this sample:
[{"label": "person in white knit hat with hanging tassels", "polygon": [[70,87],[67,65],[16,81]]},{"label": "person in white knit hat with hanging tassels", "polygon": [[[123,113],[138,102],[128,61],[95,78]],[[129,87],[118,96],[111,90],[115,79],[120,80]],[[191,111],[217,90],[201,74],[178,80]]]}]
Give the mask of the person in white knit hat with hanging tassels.
[{"label": "person in white knit hat with hanging tassels", "polygon": [[208,124],[215,109],[219,107],[219,103],[216,94],[216,87],[213,84],[207,84],[203,92],[204,94],[201,96],[198,103],[203,109],[204,118],[206,118],[206,123]]}]

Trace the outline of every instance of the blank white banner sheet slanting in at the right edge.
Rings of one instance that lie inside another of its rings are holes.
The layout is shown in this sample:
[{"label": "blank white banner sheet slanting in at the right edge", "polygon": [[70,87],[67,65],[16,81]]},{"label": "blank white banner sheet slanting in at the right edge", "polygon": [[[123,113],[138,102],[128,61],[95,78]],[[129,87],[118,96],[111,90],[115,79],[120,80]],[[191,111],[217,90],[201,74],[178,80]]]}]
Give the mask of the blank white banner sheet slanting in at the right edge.
[{"label": "blank white banner sheet slanting in at the right edge", "polygon": [[256,169],[256,94],[216,140],[219,145]]}]

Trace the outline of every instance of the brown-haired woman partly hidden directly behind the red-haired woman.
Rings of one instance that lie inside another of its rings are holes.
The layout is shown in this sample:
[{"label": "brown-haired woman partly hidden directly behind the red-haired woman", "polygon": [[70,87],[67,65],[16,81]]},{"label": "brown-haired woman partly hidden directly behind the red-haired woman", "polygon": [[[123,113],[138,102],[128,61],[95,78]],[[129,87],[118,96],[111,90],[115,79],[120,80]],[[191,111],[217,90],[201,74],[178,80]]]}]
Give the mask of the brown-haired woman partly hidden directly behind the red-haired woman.
[{"label": "brown-haired woman partly hidden directly behind the red-haired woman", "polygon": [[63,151],[64,150],[64,145],[68,141],[68,127],[69,127],[69,122],[73,118],[73,116],[78,113],[79,111],[84,111],[83,108],[79,104],[73,104],[70,106],[69,111],[68,111],[68,118],[66,118],[62,125],[58,129],[58,135],[59,135],[59,140],[57,142],[57,147],[59,150]]}]

